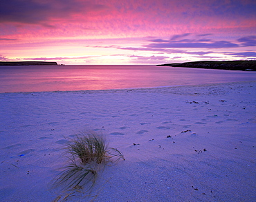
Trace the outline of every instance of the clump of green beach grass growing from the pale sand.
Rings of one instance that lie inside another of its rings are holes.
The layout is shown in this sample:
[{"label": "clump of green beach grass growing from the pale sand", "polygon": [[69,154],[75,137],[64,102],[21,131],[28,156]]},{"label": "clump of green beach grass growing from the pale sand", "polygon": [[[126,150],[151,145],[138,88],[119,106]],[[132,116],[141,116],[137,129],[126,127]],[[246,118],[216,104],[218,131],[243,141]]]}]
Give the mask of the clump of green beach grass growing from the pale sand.
[{"label": "clump of green beach grass growing from the pale sand", "polygon": [[66,145],[66,152],[71,155],[68,157],[71,162],[63,168],[53,183],[54,187],[63,185],[64,190],[83,188],[85,185],[91,188],[104,165],[120,159],[125,160],[122,152],[109,148],[104,136],[94,131],[77,134]]}]

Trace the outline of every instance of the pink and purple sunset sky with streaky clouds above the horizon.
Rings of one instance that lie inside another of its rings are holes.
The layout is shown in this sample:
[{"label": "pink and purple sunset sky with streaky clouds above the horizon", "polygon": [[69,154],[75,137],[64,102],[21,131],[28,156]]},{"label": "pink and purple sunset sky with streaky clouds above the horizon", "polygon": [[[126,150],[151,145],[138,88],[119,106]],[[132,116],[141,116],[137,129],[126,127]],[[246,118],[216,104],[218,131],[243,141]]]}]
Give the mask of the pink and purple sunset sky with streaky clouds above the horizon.
[{"label": "pink and purple sunset sky with streaky clouds above the horizon", "polygon": [[1,0],[0,61],[256,59],[255,0]]}]

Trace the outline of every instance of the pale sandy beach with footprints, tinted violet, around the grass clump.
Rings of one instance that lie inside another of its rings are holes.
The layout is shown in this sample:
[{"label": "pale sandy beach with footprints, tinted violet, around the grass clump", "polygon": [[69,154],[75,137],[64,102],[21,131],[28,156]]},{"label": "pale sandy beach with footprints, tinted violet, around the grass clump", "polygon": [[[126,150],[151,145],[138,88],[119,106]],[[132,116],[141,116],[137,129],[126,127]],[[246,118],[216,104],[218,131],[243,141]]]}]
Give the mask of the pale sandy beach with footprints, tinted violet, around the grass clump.
[{"label": "pale sandy beach with footprints, tinted violet, around the grass clump", "polygon": [[[0,201],[256,201],[256,81],[0,94]],[[51,181],[64,145],[103,133],[125,161],[90,190]]]}]

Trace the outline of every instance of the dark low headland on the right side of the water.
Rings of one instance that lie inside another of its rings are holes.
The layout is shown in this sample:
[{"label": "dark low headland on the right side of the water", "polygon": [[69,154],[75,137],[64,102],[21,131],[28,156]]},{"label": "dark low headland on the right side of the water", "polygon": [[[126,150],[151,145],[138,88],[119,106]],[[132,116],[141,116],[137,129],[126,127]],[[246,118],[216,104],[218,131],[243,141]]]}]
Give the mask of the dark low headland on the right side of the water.
[{"label": "dark low headland on the right side of the water", "polygon": [[187,63],[167,63],[156,66],[256,71],[256,61],[195,61]]}]

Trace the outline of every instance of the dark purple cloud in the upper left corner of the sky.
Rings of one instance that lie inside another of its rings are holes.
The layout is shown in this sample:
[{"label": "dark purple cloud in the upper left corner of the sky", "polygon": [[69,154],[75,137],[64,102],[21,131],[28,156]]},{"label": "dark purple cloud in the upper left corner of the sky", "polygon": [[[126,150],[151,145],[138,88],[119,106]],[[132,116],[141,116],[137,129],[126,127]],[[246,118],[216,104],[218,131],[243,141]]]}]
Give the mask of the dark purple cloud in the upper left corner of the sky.
[{"label": "dark purple cloud in the upper left corner of the sky", "polygon": [[0,5],[1,23],[40,24],[49,28],[54,27],[54,21],[68,20],[76,14],[86,15],[91,13],[91,10],[104,10],[103,5],[93,1],[77,0],[3,0]]}]

